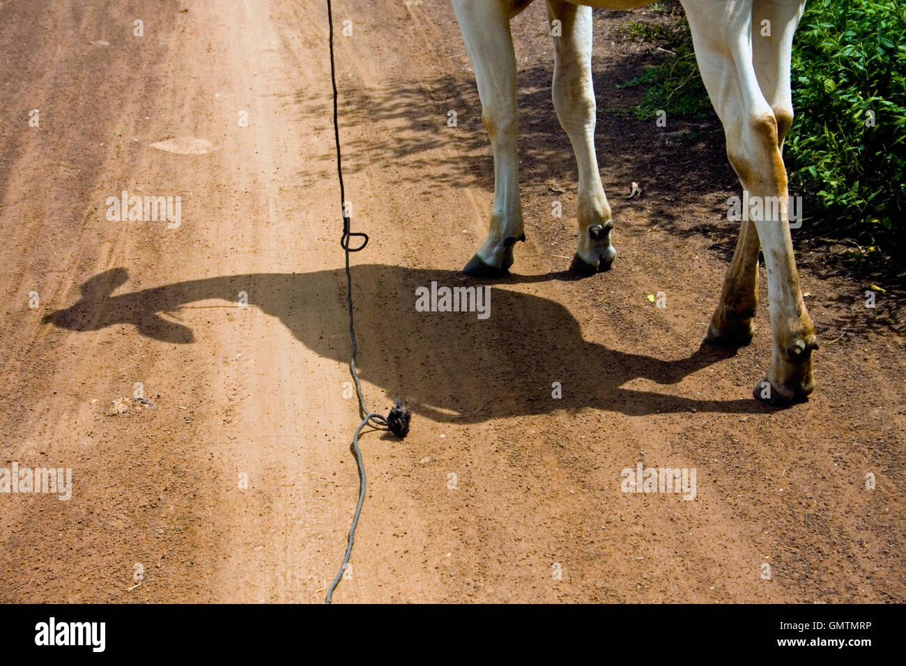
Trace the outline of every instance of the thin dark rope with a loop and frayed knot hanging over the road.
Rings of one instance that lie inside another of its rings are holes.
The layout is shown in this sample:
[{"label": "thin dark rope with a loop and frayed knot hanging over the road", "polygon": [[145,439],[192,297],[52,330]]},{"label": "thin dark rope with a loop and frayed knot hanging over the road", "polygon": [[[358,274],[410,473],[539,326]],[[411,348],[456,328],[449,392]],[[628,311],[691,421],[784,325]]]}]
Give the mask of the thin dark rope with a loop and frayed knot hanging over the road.
[{"label": "thin dark rope with a loop and frayed knot hanging over the road", "polygon": [[[360,416],[364,414],[364,419],[359,424],[359,427],[355,429],[355,433],[352,435],[352,453],[355,455],[356,465],[359,467],[359,503],[355,507],[355,514],[352,516],[352,526],[349,528],[349,536],[346,539],[346,554],[343,555],[342,565],[340,565],[340,570],[337,572],[336,578],[333,579],[333,583],[327,589],[327,597],[324,599],[324,603],[331,603],[331,598],[333,597],[333,591],[336,589],[336,586],[340,584],[342,579],[342,574],[345,572],[347,565],[349,565],[349,558],[352,555],[352,544],[355,540],[355,528],[359,526],[359,516],[361,516],[361,505],[365,502],[365,464],[361,459],[361,449],[359,449],[359,436],[361,435],[361,429],[365,427],[369,421],[375,426],[381,428],[387,428],[394,435],[400,439],[406,437],[409,434],[409,420],[410,412],[407,410],[401,403],[400,399],[396,399],[396,405],[393,409],[390,410],[390,413],[385,419],[381,414],[377,412],[369,411],[368,406],[365,404],[365,396],[361,392],[361,382],[359,381],[359,371],[355,367],[355,354],[358,351],[358,344],[355,340],[355,325],[352,321],[352,273],[349,269],[349,253],[359,252],[363,250],[365,246],[368,245],[368,235],[360,232],[352,232],[350,230],[350,225],[352,220],[346,215],[346,193],[345,188],[343,188],[342,182],[342,158],[340,155],[340,125],[337,121],[337,80],[336,80],[336,68],[333,63],[333,7],[331,6],[331,0],[327,0],[327,22],[329,24],[330,30],[330,47],[331,47],[331,84],[333,85],[333,138],[336,142],[337,150],[337,179],[340,181],[340,207],[342,210],[342,237],[340,239],[340,246],[343,248],[343,254],[346,257],[346,304],[347,309],[349,310],[349,337],[352,341],[352,355],[349,360],[349,370],[352,373],[352,381],[355,382],[355,394],[359,399],[359,413]],[[352,236],[361,236],[362,241],[361,245],[358,247],[350,246],[350,239]]]}]

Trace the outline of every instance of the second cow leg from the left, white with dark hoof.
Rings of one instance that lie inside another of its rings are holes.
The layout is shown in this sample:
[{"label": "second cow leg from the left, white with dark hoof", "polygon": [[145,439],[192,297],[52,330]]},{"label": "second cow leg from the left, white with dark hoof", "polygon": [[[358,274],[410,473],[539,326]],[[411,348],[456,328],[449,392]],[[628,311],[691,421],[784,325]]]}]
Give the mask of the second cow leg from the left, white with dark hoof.
[{"label": "second cow leg from the left, white with dark hoof", "polygon": [[554,38],[554,109],[573,144],[579,169],[579,240],[570,269],[590,275],[609,269],[616,256],[611,244],[611,208],[594,152],[592,8],[549,0],[547,14]]}]

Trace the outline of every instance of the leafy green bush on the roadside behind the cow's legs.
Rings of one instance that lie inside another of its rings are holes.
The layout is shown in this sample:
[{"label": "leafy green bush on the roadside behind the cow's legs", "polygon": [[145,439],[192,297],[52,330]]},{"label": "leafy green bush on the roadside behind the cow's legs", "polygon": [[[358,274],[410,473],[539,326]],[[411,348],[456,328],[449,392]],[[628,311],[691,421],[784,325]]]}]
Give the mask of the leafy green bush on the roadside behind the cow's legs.
[{"label": "leafy green bush on the roadside behind the cow's legs", "polygon": [[[809,0],[793,50],[791,189],[808,197],[807,217],[872,244],[894,235],[902,241],[906,226],[904,34],[899,0]],[[659,109],[680,117],[710,112],[685,21],[673,35],[674,57],[623,84],[650,86],[634,109],[639,118]]]}]

